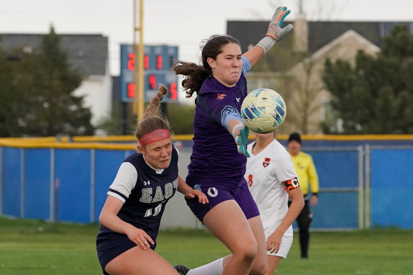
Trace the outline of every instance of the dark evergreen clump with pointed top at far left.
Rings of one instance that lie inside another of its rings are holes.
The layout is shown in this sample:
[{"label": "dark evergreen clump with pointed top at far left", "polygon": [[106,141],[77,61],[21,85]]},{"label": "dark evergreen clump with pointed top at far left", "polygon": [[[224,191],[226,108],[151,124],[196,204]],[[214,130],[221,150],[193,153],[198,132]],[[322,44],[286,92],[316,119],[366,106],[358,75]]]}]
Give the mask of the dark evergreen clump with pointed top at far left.
[{"label": "dark evergreen clump with pointed top at far left", "polygon": [[73,95],[83,76],[69,65],[53,27],[34,53],[23,47],[12,53],[21,61],[0,63],[0,136],[93,134],[90,109]]}]

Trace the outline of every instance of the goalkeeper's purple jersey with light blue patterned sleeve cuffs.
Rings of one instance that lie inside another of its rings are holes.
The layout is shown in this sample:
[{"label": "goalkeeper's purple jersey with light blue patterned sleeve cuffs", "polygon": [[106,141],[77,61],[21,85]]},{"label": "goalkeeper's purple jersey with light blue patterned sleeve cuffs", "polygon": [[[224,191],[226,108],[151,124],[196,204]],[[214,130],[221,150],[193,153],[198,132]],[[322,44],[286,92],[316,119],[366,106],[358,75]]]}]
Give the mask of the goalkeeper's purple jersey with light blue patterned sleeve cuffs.
[{"label": "goalkeeper's purple jersey with light blue patterned sleeve cuffs", "polygon": [[[243,61],[246,63],[244,58]],[[226,87],[213,76],[202,84],[195,107],[194,145],[187,183],[234,185],[244,179],[247,157],[238,153],[235,140],[226,127],[230,119],[242,121],[241,104],[248,94],[244,74],[249,68],[243,66],[234,87]]]}]

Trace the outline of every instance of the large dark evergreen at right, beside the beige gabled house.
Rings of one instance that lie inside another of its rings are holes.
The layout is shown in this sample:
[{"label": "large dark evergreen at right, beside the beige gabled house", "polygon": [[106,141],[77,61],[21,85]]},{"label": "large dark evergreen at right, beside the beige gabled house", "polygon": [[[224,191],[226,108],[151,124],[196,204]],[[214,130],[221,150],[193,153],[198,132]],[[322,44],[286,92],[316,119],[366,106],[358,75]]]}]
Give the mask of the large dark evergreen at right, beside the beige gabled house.
[{"label": "large dark evergreen at right, beside the beige gabled house", "polygon": [[[343,134],[413,133],[413,35],[395,26],[377,57],[359,51],[353,67],[325,62],[324,82]],[[337,133],[337,129],[324,129]]]}]

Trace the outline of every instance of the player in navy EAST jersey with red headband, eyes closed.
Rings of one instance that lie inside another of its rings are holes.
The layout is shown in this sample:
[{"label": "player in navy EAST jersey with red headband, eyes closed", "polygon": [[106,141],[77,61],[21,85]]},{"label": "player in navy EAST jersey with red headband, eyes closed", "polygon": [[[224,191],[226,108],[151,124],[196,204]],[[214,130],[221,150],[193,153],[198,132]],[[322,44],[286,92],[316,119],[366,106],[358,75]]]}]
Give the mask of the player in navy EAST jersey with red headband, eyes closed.
[{"label": "player in navy EAST jersey with red headband, eyes closed", "polygon": [[157,114],[167,89],[161,86],[138,123],[135,136],[139,153],[121,164],[99,216],[97,255],[104,274],[178,275],[154,252],[165,204],[176,190],[186,198],[208,199],[178,175],[178,150],[173,147],[169,123]]}]

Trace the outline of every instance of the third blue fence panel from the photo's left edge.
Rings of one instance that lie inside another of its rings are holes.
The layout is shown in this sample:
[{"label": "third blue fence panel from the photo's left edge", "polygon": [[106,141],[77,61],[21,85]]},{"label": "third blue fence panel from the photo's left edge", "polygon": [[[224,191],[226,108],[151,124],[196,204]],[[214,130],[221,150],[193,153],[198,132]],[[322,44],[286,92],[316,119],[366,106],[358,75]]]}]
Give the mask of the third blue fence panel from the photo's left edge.
[{"label": "third blue fence panel from the photo's left edge", "polygon": [[90,222],[90,150],[55,150],[60,221]]}]

